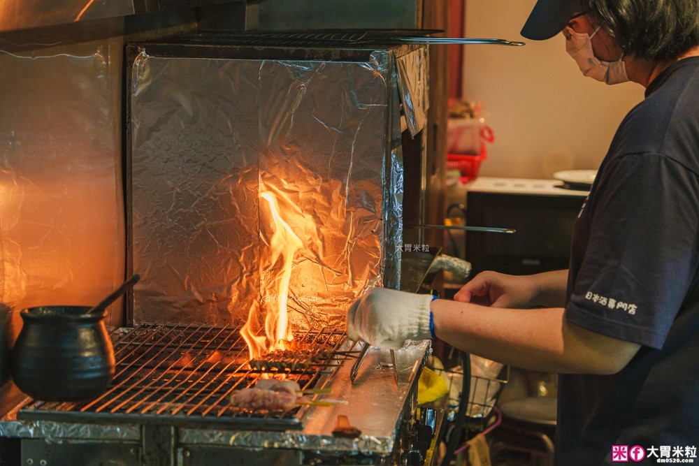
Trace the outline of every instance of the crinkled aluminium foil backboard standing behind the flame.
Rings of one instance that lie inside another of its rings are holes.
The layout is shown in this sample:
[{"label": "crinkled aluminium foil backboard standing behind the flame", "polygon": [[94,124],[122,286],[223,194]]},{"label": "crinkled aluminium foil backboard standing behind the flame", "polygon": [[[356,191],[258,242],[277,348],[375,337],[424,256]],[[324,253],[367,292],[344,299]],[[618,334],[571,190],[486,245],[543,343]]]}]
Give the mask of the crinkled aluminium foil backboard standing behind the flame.
[{"label": "crinkled aluminium foil backboard standing behind the flame", "polygon": [[[238,324],[283,300],[294,326],[342,328],[356,296],[397,286],[395,64],[390,49],[314,61],[144,45],[129,102],[134,322]],[[302,243],[288,296],[268,291],[283,258],[263,191]]]}]

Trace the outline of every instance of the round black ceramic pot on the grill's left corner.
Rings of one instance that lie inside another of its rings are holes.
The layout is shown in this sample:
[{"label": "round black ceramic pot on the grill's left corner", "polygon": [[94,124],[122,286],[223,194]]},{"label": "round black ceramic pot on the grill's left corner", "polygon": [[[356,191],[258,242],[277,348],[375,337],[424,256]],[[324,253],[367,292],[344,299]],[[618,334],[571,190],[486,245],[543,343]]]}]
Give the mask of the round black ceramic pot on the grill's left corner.
[{"label": "round black ceramic pot on the grill's left corner", "polygon": [[22,330],[12,350],[12,377],[24,393],[45,401],[90,400],[114,377],[114,349],[104,326],[106,311],[85,306],[22,310]]}]

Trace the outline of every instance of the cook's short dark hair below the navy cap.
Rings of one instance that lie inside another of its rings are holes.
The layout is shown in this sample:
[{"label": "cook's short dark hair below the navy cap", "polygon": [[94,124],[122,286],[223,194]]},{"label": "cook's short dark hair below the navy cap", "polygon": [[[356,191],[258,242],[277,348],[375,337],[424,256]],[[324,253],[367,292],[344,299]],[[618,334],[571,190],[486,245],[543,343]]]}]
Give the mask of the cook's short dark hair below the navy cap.
[{"label": "cook's short dark hair below the navy cap", "polygon": [[582,0],[626,55],[677,59],[699,45],[699,0]]}]

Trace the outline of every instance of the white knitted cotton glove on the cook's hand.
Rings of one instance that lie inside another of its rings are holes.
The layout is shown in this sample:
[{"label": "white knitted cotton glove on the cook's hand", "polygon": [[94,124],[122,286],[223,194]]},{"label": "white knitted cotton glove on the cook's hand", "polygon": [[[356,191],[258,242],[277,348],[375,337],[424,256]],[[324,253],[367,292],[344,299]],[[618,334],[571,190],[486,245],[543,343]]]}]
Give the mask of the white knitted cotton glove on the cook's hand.
[{"label": "white knitted cotton glove on the cook's hand", "polygon": [[431,302],[431,295],[370,289],[347,311],[347,336],[387,349],[399,349],[405,340],[427,340]]}]

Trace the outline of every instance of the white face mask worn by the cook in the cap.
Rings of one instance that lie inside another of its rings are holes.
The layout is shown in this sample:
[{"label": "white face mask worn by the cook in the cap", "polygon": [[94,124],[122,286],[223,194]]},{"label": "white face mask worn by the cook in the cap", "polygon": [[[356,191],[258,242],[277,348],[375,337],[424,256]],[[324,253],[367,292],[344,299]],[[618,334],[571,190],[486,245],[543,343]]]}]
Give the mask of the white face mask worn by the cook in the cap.
[{"label": "white face mask worn by the cook in the cap", "polygon": [[584,32],[575,32],[570,26],[566,27],[565,31],[570,34],[570,38],[565,39],[565,51],[575,59],[582,74],[607,84],[627,82],[628,75],[626,75],[626,65],[623,61],[624,55],[619,58],[619,61],[612,62],[602,61],[595,57],[595,52],[592,50],[592,38],[599,30],[598,27],[589,35]]}]

